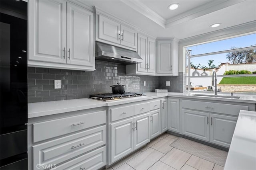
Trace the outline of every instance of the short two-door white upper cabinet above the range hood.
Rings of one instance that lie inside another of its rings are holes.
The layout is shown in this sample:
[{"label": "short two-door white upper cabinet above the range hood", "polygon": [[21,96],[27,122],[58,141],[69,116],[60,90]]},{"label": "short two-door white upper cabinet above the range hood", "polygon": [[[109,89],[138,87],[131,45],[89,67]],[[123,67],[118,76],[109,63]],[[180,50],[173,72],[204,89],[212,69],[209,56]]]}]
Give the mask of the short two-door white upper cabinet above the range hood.
[{"label": "short two-door white upper cabinet above the range hood", "polygon": [[97,14],[97,41],[131,50],[137,48],[137,31],[118,21]]}]

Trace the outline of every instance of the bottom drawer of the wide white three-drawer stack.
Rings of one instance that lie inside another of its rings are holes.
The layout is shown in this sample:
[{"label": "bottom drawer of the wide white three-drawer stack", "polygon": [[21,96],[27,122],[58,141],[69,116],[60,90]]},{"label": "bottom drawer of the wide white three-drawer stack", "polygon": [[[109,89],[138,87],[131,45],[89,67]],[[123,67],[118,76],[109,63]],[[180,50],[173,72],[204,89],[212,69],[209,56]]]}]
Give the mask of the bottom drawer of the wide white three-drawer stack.
[{"label": "bottom drawer of the wide white three-drawer stack", "polygon": [[97,170],[106,165],[106,146],[72,159],[51,170]]}]

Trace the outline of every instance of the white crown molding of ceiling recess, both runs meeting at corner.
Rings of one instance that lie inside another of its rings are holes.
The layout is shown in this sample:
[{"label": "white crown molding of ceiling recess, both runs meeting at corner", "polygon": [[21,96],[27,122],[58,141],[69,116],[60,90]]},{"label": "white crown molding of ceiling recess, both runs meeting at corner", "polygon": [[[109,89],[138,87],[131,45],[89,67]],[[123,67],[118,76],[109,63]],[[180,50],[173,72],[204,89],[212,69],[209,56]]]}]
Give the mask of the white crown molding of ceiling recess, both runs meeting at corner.
[{"label": "white crown molding of ceiling recess, both runs meeting at corner", "polygon": [[183,12],[182,14],[179,14],[179,15],[169,18],[167,20],[162,18],[160,15],[158,15],[156,12],[154,12],[152,9],[150,9],[148,6],[146,6],[139,0],[121,0],[121,1],[124,4],[133,8],[134,10],[136,10],[137,12],[139,12],[140,14],[142,14],[142,15],[146,16],[147,18],[149,18],[150,20],[154,21],[161,27],[168,28],[168,27],[172,27],[174,25],[178,25],[180,23],[184,23],[186,21],[193,20],[200,16],[204,16],[206,14],[210,14],[214,11],[221,10],[228,6],[238,4],[245,0],[221,0],[221,1],[213,0],[211,2],[208,2],[201,6],[198,6],[191,10]]}]

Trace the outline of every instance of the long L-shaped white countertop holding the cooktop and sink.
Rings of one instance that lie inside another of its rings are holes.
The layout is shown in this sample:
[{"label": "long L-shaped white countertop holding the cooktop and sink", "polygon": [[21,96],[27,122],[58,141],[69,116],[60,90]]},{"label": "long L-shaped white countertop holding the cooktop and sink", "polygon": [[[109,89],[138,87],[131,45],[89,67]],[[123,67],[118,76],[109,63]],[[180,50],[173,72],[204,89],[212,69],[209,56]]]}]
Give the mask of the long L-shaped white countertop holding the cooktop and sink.
[{"label": "long L-shaped white countertop holding the cooktop and sink", "polygon": [[128,99],[116,100],[111,102],[102,102],[98,100],[92,100],[89,98],[83,98],[83,99],[61,100],[61,101],[52,101],[52,102],[30,103],[28,104],[28,118],[64,113],[68,111],[91,109],[96,107],[115,106],[119,104],[139,102],[143,100],[151,100],[154,98],[161,98],[161,97],[167,97],[167,96],[178,97],[178,98],[190,98],[190,99],[256,103],[256,96],[250,96],[250,95],[241,96],[240,99],[230,99],[230,98],[214,98],[214,97],[204,97],[204,96],[190,96],[185,93],[175,93],[175,92],[169,92],[169,93],[147,92],[144,94],[146,94],[147,96],[139,97],[139,98],[130,98],[130,99],[128,98]]}]

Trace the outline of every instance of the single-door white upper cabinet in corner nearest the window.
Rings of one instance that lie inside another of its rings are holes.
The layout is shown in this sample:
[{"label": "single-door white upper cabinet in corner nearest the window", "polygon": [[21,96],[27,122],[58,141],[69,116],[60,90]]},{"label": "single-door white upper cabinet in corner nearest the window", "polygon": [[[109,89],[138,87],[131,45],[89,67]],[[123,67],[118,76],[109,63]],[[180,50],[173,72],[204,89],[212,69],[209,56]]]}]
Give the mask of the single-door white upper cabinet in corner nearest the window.
[{"label": "single-door white upper cabinet in corner nearest the window", "polygon": [[157,39],[157,76],[178,76],[178,39],[158,38]]}]

